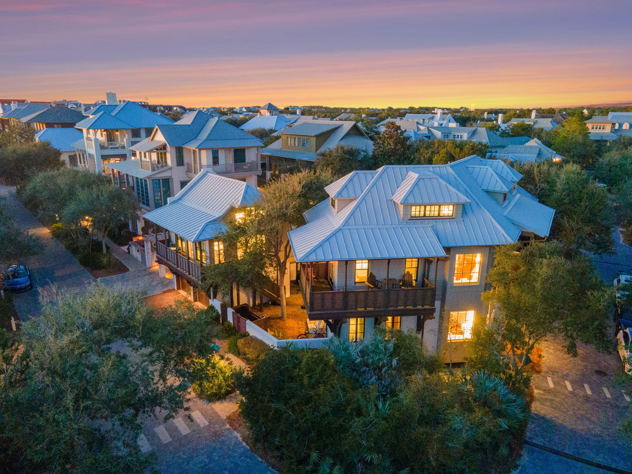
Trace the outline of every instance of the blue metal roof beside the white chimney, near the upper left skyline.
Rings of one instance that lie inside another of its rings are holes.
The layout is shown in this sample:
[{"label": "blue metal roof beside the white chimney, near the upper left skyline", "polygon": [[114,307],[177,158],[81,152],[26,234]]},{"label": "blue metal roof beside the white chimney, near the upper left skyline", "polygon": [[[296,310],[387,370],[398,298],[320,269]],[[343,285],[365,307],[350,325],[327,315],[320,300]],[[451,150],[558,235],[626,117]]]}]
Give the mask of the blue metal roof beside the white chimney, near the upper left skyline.
[{"label": "blue metal roof beside the white chimney, near the upper left skyline", "polygon": [[[77,123],[77,128],[88,130],[152,128],[156,125],[173,123],[173,120],[162,114],[155,114],[135,102],[126,100],[123,104],[100,104],[87,112],[90,117]],[[97,120],[97,117],[99,119]]]}]

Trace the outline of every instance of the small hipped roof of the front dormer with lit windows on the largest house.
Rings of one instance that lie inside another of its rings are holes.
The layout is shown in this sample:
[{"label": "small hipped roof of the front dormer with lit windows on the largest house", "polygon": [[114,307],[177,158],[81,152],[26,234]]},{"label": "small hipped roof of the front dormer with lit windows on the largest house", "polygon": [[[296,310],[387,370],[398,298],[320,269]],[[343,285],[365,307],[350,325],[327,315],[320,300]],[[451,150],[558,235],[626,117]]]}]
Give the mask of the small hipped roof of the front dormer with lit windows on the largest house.
[{"label": "small hipped roof of the front dormer with lit windows on the largest house", "polygon": [[465,204],[470,202],[463,194],[436,174],[408,171],[406,178],[391,196],[399,204]]}]

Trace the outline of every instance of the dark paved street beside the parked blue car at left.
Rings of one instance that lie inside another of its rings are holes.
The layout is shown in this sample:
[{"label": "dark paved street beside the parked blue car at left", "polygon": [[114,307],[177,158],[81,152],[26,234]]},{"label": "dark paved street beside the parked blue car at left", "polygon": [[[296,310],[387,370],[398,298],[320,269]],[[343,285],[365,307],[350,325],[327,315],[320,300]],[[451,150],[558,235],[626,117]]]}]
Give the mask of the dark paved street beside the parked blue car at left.
[{"label": "dark paved street beside the parked blue car at left", "polygon": [[13,217],[16,226],[37,235],[42,242],[42,253],[27,259],[27,265],[32,271],[33,289],[17,293],[13,300],[16,312],[20,319],[25,321],[40,314],[42,308],[39,301],[40,293],[46,296],[51,285],[59,291],[68,289],[81,291],[95,279],[79,264],[73,254],[68,252],[20,203],[15,195],[15,188],[0,185],[0,196],[4,198],[7,212]]}]

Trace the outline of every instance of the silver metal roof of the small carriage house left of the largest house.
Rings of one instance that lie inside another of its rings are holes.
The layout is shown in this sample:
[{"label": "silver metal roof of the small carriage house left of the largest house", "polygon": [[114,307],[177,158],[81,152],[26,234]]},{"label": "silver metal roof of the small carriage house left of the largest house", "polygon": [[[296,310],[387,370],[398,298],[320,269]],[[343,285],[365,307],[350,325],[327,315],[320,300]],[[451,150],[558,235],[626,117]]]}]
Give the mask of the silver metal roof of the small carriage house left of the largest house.
[{"label": "silver metal roof of the small carriage house left of the largest house", "polygon": [[221,219],[232,207],[251,205],[259,197],[255,186],[219,176],[204,168],[165,206],[143,216],[186,240],[212,239],[226,229]]}]

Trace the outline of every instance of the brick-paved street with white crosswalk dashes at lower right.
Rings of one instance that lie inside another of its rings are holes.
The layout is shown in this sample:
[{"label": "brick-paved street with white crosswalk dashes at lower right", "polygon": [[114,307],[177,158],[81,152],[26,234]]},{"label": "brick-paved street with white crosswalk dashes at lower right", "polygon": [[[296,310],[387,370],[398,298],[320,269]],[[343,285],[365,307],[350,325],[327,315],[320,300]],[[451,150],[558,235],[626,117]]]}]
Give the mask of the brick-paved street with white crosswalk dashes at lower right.
[{"label": "brick-paved street with white crosswalk dashes at lower right", "polygon": [[[630,413],[631,387],[617,383],[621,362],[579,344],[573,358],[562,341],[541,344],[542,372],[533,377],[535,401],[526,439],[624,471],[632,471],[632,443],[621,433]],[[525,447],[519,474],[606,473],[607,471]]]}]

